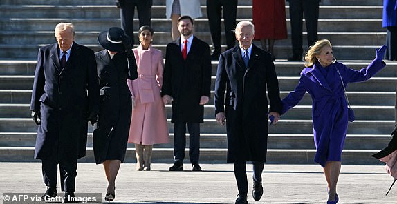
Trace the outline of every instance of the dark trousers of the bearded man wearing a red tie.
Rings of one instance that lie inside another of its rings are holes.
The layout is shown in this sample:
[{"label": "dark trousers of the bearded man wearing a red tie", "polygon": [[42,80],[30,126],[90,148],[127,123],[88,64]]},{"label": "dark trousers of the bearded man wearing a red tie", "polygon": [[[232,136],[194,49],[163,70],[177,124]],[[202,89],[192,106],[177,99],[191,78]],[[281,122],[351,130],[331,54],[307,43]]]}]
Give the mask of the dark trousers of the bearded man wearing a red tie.
[{"label": "dark trousers of the bearded man wearing a red tie", "polygon": [[186,146],[186,123],[189,130],[189,157],[190,162],[199,163],[200,156],[200,123],[174,123],[174,161],[183,163]]}]

